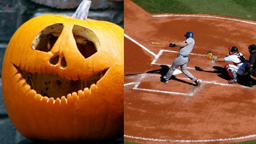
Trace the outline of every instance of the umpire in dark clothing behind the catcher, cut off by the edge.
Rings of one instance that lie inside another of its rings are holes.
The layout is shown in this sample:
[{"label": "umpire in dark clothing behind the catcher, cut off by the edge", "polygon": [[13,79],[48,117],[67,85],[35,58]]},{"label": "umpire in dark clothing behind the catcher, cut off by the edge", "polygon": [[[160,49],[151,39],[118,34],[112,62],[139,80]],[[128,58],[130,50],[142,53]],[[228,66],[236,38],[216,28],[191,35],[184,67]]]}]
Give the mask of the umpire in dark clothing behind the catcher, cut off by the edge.
[{"label": "umpire in dark clothing behind the catcher, cut off by the edge", "polygon": [[248,51],[250,53],[249,61],[245,60],[249,63],[249,65],[244,68],[244,76],[246,80],[245,86],[252,87],[252,78],[251,75],[256,77],[256,45],[252,44],[248,47]]}]

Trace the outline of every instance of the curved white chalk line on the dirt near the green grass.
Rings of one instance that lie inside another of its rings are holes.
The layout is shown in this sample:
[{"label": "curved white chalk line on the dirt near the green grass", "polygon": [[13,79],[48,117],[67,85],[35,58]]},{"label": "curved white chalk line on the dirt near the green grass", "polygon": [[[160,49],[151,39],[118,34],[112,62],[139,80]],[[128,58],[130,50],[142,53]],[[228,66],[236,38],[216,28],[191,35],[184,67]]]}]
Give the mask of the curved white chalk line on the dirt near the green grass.
[{"label": "curved white chalk line on the dirt near the green grass", "polygon": [[187,17],[207,17],[207,18],[217,18],[217,19],[224,19],[224,20],[230,20],[230,21],[239,21],[239,22],[244,22],[244,23],[249,23],[256,25],[254,22],[249,22],[249,21],[242,21],[242,20],[237,20],[237,19],[232,19],[232,18],[224,18],[224,17],[218,17],[218,16],[198,16],[198,15],[155,15],[153,17],[167,17],[167,16],[187,16]]}]

